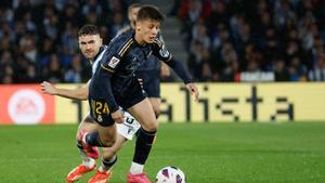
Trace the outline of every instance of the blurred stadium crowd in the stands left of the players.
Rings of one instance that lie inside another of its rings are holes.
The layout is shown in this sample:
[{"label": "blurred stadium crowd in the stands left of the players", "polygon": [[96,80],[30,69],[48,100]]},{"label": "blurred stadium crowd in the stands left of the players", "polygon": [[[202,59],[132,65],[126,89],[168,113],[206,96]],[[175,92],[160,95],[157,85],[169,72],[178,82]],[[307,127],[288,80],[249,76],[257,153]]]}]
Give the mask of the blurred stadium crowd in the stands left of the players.
[{"label": "blurred stadium crowd in the stands left of the players", "polygon": [[1,0],[0,83],[81,82],[91,75],[78,49],[83,24],[108,43],[128,24],[129,1]]}]

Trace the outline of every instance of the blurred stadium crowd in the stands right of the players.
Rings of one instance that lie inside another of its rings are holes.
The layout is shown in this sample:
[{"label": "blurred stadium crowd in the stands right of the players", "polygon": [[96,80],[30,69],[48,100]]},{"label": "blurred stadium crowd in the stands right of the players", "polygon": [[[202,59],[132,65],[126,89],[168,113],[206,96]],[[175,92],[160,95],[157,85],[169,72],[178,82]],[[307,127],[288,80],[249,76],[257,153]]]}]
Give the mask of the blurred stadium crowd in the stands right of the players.
[{"label": "blurred stadium crowd in the stands right of the players", "polygon": [[188,66],[202,81],[271,71],[276,81],[325,80],[325,1],[182,0]]}]

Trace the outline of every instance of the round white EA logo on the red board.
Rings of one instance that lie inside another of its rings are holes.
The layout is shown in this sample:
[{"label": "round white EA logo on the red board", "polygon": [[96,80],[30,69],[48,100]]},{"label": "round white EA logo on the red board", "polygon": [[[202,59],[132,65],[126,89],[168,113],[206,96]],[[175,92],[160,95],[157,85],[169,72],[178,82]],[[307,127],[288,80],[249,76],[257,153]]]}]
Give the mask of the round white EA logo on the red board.
[{"label": "round white EA logo on the red board", "polygon": [[18,90],[9,100],[10,118],[21,125],[39,122],[44,116],[44,101],[40,94],[30,89]]}]

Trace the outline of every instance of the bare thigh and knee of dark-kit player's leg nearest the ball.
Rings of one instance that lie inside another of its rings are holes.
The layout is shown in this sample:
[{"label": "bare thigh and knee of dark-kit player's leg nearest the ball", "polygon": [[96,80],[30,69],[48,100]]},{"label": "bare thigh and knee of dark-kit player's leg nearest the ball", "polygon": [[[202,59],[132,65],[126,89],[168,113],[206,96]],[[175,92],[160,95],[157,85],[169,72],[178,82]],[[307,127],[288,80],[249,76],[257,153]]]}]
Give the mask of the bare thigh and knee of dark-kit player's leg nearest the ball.
[{"label": "bare thigh and knee of dark-kit player's leg nearest the ball", "polygon": [[148,99],[145,99],[128,108],[128,112],[139,121],[144,130],[157,130],[158,121]]}]

